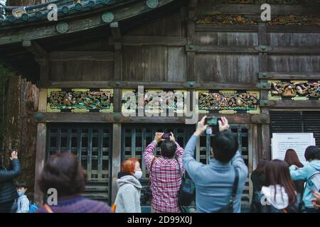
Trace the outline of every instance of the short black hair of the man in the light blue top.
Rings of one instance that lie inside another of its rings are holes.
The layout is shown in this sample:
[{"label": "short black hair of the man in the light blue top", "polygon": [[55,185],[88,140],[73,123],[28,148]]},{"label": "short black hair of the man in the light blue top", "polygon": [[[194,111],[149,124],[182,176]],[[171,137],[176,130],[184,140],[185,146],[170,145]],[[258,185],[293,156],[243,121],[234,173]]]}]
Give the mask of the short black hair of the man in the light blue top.
[{"label": "short black hair of the man in the light blue top", "polygon": [[238,140],[229,130],[218,132],[211,139],[213,155],[220,162],[229,162],[238,150]]}]

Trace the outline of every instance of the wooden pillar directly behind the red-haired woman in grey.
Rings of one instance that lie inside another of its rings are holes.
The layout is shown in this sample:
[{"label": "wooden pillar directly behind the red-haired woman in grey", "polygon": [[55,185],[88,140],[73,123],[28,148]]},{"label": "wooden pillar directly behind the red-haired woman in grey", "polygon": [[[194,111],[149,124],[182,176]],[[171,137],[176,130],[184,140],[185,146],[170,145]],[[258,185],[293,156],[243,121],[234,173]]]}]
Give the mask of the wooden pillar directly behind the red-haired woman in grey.
[{"label": "wooden pillar directly behind the red-haired woman in grey", "polygon": [[111,204],[117,196],[117,177],[121,167],[121,123],[113,124],[113,143],[112,143],[112,190]]}]

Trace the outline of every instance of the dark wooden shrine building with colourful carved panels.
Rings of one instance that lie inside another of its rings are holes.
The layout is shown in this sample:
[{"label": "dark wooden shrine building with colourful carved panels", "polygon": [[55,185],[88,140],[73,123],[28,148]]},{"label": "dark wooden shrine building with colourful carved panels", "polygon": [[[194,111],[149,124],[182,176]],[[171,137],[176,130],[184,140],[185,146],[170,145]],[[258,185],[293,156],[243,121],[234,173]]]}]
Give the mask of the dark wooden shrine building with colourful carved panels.
[{"label": "dark wooden shrine building with colourful carved panels", "polygon": [[[265,2],[271,21],[264,22]],[[48,21],[49,3],[58,5],[58,21]],[[71,152],[87,172],[85,194],[112,204],[120,163],[141,160],[156,131],[173,131],[186,145],[195,130],[186,116],[122,114],[124,92],[137,94],[138,86],[198,92],[200,117],[227,116],[250,172],[257,160],[271,158],[272,133],[312,132],[320,145],[319,1],[49,3],[5,7],[0,20],[1,61],[39,89],[30,118],[37,128],[35,179],[50,155]],[[210,137],[203,135],[196,159],[209,158]],[[248,178],[243,207],[251,191]],[[37,185],[34,195],[43,199]]]}]

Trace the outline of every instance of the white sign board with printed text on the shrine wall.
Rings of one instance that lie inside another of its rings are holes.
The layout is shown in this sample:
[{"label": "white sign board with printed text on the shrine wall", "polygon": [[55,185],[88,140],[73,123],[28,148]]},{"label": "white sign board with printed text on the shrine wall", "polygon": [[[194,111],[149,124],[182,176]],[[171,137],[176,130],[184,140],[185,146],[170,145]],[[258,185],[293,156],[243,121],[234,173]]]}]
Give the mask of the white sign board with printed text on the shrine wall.
[{"label": "white sign board with printed text on the shrine wall", "polygon": [[284,160],[289,148],[296,151],[300,162],[306,164],[304,151],[310,145],[316,145],[314,133],[272,133],[272,159]]}]

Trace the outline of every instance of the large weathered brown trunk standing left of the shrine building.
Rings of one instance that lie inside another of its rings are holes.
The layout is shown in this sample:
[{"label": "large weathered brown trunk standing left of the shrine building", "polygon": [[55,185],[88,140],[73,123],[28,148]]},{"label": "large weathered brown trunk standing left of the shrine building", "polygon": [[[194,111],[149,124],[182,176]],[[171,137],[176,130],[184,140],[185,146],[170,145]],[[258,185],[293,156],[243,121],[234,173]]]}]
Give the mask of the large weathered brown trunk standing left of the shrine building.
[{"label": "large weathered brown trunk standing left of the shrine building", "polygon": [[[7,82],[4,99],[4,151],[18,150],[22,173],[17,181],[26,182],[28,196],[33,199],[34,167],[36,157],[36,123],[34,111],[38,111],[38,88],[11,76]],[[6,165],[9,157],[6,156]]]}]

